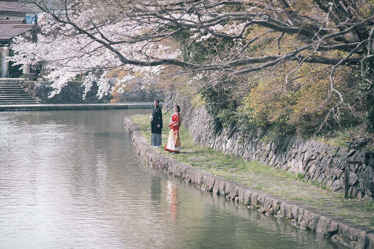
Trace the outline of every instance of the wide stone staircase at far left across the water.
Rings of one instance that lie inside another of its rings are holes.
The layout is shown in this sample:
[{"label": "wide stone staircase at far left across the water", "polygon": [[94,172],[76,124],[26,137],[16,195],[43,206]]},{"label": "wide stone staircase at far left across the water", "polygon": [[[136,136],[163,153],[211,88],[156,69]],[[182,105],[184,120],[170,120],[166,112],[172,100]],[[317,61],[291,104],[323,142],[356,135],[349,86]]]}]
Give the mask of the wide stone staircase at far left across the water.
[{"label": "wide stone staircase at far left across the water", "polygon": [[37,104],[24,88],[18,84],[19,80],[0,79],[0,105]]}]

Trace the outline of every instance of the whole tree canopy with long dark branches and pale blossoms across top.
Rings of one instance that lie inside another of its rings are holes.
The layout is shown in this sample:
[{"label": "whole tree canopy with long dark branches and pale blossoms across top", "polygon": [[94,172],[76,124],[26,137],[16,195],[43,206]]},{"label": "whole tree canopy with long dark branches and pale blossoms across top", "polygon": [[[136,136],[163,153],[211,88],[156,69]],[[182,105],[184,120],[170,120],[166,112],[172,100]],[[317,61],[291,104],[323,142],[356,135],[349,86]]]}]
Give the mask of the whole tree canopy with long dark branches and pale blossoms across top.
[{"label": "whole tree canopy with long dark branches and pale blossoms across top", "polygon": [[[12,61],[43,62],[56,88],[51,96],[80,74],[87,90],[98,80],[102,97],[113,90],[113,71],[125,72],[117,81],[121,92],[136,78],[147,84],[171,67],[192,73],[193,81],[230,85],[286,65],[287,85],[315,64],[328,70],[327,98],[316,105],[328,105],[323,125],[331,116],[338,120],[341,108],[355,111],[336,87],[337,71],[358,70],[368,91],[374,89],[365,74],[374,61],[372,0],[66,0],[59,13],[45,1],[28,1],[53,21],[37,44],[16,39]],[[209,57],[199,58],[194,44],[208,46]]]}]

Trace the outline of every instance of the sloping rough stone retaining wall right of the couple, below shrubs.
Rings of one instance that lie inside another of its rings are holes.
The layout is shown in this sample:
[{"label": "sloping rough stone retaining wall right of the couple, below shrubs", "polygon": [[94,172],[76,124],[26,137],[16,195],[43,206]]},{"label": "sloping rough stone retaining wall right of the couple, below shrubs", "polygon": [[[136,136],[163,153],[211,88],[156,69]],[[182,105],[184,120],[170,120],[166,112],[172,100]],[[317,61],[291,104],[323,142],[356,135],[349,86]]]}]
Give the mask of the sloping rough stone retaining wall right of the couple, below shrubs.
[{"label": "sloping rough stone retaining wall right of the couple, below shrubs", "polygon": [[194,141],[215,150],[241,156],[246,161],[257,160],[294,174],[301,173],[307,181],[317,181],[332,191],[344,191],[346,159],[363,162],[351,165],[349,195],[360,199],[374,199],[374,153],[366,150],[347,150],[297,136],[280,136],[274,141],[261,142],[266,132],[253,130],[247,133],[235,127],[221,129],[215,134],[209,129],[209,115],[205,108],[195,108],[189,99],[173,92],[166,95],[164,111],[179,105],[182,124]]}]

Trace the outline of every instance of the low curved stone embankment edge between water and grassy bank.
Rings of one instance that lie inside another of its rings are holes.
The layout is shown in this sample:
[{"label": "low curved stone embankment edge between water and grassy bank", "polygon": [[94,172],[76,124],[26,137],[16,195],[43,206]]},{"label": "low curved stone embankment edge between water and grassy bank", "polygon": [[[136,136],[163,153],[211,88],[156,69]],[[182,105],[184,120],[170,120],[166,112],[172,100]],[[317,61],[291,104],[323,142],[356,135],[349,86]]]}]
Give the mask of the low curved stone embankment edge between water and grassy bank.
[{"label": "low curved stone embankment edge between water and grassy bank", "polygon": [[244,184],[212,175],[174,159],[160,155],[142,136],[138,125],[131,117],[125,118],[135,150],[145,163],[190,182],[207,192],[226,196],[227,199],[243,203],[260,212],[277,215],[292,224],[332,237],[355,249],[374,249],[374,231],[367,227],[345,221],[343,217],[331,216],[314,208],[297,204],[273,194],[252,189]]}]

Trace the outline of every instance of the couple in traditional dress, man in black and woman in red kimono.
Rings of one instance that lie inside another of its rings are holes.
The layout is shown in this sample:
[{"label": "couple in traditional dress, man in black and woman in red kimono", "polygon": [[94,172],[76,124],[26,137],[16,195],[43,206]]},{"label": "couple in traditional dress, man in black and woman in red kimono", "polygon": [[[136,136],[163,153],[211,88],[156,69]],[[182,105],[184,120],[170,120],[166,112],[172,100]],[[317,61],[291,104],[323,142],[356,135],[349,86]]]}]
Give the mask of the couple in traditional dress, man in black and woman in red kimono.
[{"label": "couple in traditional dress, man in black and woman in red kimono", "polygon": [[[162,129],[162,112],[159,107],[159,100],[154,100],[154,110],[151,119],[151,146],[159,148],[161,145],[161,129]],[[174,114],[170,118],[170,132],[169,138],[166,142],[165,150],[172,153],[179,153],[181,147],[181,140],[179,138],[179,128],[181,127],[181,108],[176,105],[173,108]]]}]

